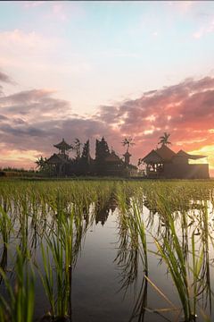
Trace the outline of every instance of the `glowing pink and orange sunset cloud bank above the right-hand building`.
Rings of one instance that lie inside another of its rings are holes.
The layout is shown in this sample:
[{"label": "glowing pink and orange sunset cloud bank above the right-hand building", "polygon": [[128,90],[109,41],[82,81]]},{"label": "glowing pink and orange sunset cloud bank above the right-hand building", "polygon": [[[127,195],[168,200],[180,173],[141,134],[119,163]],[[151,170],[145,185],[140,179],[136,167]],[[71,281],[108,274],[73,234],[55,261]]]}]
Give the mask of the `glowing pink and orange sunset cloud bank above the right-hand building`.
[{"label": "glowing pink and orange sunset cloud bank above the right-hand building", "polygon": [[213,140],[213,131],[209,131],[213,128],[213,102],[214,78],[187,79],[145,93],[136,100],[106,108],[101,106],[99,117],[110,126],[117,124],[120,137],[135,137],[133,154],[143,157],[157,146],[163,131],[171,133],[173,147],[177,150],[180,145],[187,151],[201,148]]}]

